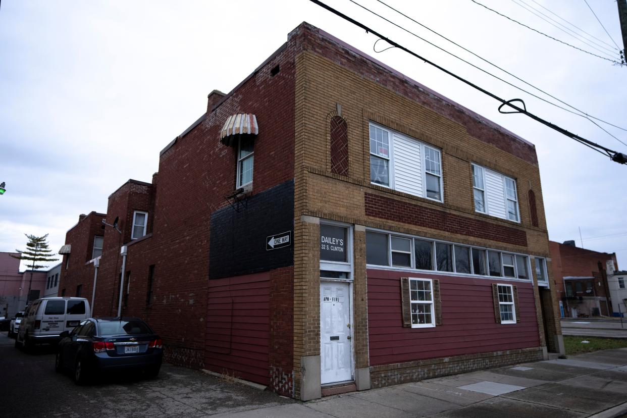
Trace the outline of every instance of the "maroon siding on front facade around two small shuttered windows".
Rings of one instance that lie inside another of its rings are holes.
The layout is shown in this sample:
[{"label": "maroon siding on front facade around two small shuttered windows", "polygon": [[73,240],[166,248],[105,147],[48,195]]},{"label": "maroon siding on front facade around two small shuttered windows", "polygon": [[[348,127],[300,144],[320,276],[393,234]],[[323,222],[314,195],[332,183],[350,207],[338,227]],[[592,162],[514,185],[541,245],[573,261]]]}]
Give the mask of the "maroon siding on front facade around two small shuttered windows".
[{"label": "maroon siding on front facade around two small shuttered windows", "polygon": [[[492,280],[368,269],[370,364],[539,347],[531,283],[499,280],[518,287],[520,322],[494,318]],[[442,325],[403,328],[401,277],[440,280]]]}]

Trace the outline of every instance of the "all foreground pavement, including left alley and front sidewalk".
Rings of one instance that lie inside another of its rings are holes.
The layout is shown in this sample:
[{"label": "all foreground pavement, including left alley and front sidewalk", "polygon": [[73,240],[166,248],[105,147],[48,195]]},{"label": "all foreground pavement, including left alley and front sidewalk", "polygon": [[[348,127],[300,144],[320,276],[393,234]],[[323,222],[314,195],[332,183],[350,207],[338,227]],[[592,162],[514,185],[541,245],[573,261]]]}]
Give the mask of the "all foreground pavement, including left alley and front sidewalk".
[{"label": "all foreground pavement, including left alley and front sidewalk", "polygon": [[[78,387],[52,350],[26,354],[0,334],[2,417],[619,417],[627,349],[423,380],[310,402],[164,365],[158,379],[111,377]],[[599,415],[595,415],[599,414]]]}]

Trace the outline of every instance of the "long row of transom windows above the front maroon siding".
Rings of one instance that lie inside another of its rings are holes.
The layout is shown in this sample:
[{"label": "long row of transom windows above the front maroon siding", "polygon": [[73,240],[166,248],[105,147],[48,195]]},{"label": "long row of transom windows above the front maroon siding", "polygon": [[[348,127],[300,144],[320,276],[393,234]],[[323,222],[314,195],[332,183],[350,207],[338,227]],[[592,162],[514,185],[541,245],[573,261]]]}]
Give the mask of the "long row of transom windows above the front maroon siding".
[{"label": "long row of transom windows above the front maroon siding", "polygon": [[366,264],[528,280],[529,257],[426,238],[366,231]]}]

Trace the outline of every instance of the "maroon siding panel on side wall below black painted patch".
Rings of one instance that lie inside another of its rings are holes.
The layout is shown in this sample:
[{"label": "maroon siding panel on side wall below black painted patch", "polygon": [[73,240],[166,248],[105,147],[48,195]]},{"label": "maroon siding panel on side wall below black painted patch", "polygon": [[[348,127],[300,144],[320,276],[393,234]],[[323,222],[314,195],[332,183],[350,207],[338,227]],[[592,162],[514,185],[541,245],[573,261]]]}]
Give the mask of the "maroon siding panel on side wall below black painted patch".
[{"label": "maroon siding panel on side wall below black painted patch", "polygon": [[204,365],[213,372],[270,383],[270,273],[209,280]]}]

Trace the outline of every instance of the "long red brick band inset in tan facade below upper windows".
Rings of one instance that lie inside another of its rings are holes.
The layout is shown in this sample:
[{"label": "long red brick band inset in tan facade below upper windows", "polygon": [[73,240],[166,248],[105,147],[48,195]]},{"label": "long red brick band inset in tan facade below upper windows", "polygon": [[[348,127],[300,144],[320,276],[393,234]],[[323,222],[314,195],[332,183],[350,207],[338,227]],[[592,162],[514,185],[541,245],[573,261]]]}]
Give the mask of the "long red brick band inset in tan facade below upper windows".
[{"label": "long red brick band inset in tan facade below upper windows", "polygon": [[453,234],[463,234],[502,243],[527,246],[527,233],[522,229],[396,201],[371,193],[366,193],[364,199],[366,202],[366,216],[440,229],[440,231]]}]

